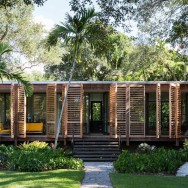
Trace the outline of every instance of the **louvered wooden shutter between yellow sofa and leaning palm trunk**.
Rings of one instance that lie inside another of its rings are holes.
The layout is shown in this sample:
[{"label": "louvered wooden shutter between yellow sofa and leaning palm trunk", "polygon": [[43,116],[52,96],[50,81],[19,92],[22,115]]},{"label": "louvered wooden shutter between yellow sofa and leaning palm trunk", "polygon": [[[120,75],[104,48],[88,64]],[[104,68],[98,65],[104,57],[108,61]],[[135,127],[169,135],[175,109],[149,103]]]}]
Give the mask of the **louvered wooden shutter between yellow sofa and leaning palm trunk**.
[{"label": "louvered wooden shutter between yellow sofa and leaning palm trunk", "polygon": [[46,91],[46,130],[49,137],[56,134],[56,111],[57,111],[57,94],[56,84],[47,85]]}]

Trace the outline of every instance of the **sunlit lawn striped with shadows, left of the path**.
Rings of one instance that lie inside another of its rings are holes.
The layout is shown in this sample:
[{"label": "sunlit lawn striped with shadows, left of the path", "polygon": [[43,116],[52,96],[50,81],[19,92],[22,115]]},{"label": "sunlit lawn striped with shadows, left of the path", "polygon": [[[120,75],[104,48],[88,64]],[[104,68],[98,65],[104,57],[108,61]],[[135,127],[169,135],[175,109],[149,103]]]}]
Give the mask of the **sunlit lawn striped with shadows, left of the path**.
[{"label": "sunlit lawn striped with shadows, left of the path", "polygon": [[84,171],[53,170],[45,172],[0,171],[0,187],[50,187],[80,188]]}]

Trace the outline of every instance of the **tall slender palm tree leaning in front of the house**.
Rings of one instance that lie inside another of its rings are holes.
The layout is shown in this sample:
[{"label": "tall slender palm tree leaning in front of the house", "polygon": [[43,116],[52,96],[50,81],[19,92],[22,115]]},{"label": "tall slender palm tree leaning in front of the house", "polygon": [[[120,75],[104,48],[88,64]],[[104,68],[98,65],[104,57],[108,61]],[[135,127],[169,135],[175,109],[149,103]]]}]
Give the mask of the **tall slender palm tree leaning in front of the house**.
[{"label": "tall slender palm tree leaning in front of the house", "polygon": [[74,69],[82,53],[82,46],[84,43],[92,44],[90,34],[92,32],[92,24],[94,24],[93,18],[95,16],[97,16],[97,14],[95,13],[94,8],[87,9],[81,13],[76,13],[73,17],[69,14],[66,14],[66,22],[61,23],[62,25],[56,25],[48,37],[47,43],[49,47],[55,45],[58,39],[63,39],[65,44],[71,44],[74,49],[74,62],[70,72],[70,78],[67,84],[65,98],[62,104],[62,109],[57,124],[54,149],[57,147],[62,114],[67,101],[67,95],[74,73]]}]

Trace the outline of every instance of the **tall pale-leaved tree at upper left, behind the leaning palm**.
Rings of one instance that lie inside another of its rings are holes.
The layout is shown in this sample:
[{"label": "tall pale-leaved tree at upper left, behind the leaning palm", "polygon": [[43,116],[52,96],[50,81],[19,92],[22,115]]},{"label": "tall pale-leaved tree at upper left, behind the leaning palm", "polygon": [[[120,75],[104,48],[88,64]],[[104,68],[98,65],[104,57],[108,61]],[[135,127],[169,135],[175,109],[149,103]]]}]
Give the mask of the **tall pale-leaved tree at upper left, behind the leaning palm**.
[{"label": "tall pale-leaved tree at upper left, behind the leaning palm", "polygon": [[0,40],[9,43],[12,53],[7,56],[7,67],[12,72],[25,71],[40,64],[61,61],[61,48],[45,48],[47,31],[33,21],[33,6],[18,2],[12,8],[2,8],[0,16]]}]

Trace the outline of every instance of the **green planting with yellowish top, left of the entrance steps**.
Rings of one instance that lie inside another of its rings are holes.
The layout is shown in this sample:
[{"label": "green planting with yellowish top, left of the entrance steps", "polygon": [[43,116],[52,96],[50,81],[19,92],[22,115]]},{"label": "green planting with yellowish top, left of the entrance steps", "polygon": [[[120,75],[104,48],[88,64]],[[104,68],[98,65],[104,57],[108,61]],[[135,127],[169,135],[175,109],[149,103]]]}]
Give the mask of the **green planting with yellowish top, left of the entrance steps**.
[{"label": "green planting with yellowish top, left of the entrance steps", "polygon": [[45,142],[24,143],[18,147],[0,146],[0,167],[6,170],[39,172],[54,169],[83,169],[83,161]]}]

